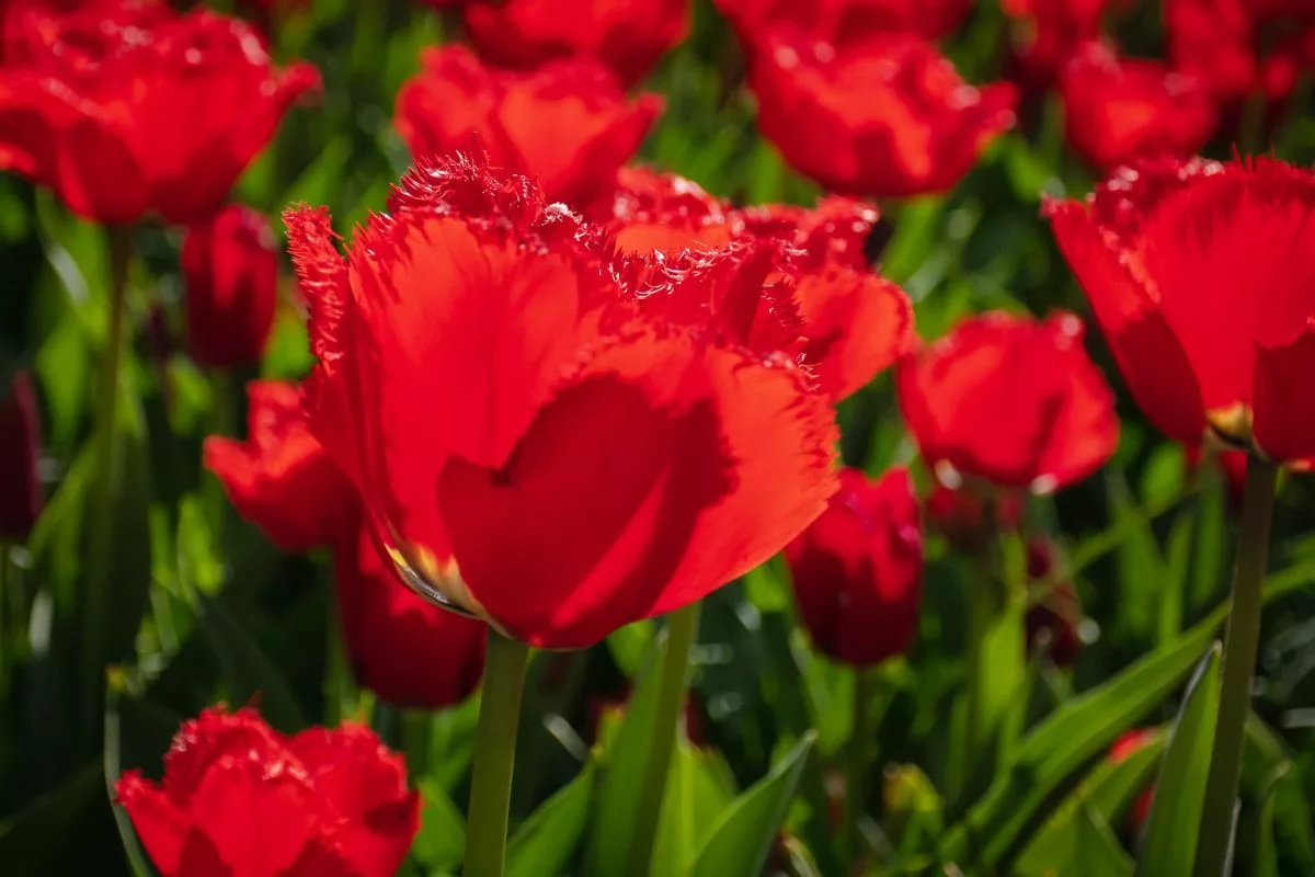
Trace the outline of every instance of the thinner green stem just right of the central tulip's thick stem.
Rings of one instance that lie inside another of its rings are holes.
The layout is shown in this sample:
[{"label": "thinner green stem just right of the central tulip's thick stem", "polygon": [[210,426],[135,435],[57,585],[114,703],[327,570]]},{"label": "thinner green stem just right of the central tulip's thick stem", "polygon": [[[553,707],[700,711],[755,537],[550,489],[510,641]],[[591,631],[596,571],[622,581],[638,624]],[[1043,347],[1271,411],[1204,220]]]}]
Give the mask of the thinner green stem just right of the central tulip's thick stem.
[{"label": "thinner green stem just right of the central tulip's thick stem", "polygon": [[676,749],[676,728],[685,706],[689,688],[689,651],[698,634],[701,604],[693,602],[667,617],[667,650],[661,660],[661,678],[658,680],[658,711],[648,738],[648,759],[639,788],[639,809],[635,814],[635,834],[625,874],[643,877],[652,866],[654,841],[658,839],[658,819],[667,792],[667,774]]}]

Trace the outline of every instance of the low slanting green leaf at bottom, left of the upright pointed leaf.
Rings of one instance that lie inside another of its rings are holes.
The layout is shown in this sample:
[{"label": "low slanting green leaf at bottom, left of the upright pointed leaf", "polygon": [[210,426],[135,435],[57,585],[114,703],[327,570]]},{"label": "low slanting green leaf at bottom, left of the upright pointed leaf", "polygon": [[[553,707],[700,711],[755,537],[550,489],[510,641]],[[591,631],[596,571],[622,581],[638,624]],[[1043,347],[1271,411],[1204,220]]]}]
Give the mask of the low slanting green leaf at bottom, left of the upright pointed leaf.
[{"label": "low slanting green leaf at bottom, left of the upright pointed leaf", "polygon": [[1127,757],[1097,764],[1023,849],[1014,868],[1018,877],[1045,877],[1076,868],[1082,814],[1089,811],[1107,826],[1116,824],[1134,798],[1149,788],[1164,747],[1165,735],[1157,734]]}]

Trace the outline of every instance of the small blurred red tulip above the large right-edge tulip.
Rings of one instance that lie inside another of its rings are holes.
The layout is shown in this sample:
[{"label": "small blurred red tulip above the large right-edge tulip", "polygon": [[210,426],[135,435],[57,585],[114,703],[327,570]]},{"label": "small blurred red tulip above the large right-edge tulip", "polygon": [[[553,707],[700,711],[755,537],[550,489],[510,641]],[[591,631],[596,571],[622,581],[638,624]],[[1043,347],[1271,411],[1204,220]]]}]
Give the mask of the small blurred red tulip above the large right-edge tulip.
[{"label": "small blurred red tulip above the large right-edge tulip", "polygon": [[1101,171],[1134,158],[1185,158],[1218,124],[1214,99],[1194,76],[1157,60],[1120,59],[1088,43],[1060,78],[1069,145]]}]

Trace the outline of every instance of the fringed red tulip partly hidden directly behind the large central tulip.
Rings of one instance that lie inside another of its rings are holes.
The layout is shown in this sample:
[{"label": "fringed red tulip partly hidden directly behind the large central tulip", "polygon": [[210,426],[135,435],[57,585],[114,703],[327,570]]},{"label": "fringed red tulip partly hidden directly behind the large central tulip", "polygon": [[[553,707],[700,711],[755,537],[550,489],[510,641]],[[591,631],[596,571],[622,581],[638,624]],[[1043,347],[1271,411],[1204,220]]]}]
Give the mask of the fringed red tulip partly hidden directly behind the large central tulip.
[{"label": "fringed red tulip partly hidden directly behind the large central tulip", "polygon": [[643,313],[786,352],[834,400],[913,341],[907,296],[867,270],[863,238],[877,217],[869,205],[825,199],[815,209],[736,210],[688,180],[631,174],[613,212],[608,225],[629,259],[622,275]]}]

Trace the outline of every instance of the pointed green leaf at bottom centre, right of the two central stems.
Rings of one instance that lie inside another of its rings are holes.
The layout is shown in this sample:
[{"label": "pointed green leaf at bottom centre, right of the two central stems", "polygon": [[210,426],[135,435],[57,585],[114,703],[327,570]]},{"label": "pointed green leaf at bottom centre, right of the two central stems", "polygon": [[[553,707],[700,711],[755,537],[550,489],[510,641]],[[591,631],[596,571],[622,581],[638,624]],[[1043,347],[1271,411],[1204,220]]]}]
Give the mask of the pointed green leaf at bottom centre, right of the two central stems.
[{"label": "pointed green leaf at bottom centre, right of the two central stems", "polygon": [[690,877],[756,877],[772,852],[817,735],[800,740],[772,772],[736,798],[707,828]]}]

